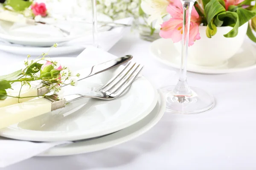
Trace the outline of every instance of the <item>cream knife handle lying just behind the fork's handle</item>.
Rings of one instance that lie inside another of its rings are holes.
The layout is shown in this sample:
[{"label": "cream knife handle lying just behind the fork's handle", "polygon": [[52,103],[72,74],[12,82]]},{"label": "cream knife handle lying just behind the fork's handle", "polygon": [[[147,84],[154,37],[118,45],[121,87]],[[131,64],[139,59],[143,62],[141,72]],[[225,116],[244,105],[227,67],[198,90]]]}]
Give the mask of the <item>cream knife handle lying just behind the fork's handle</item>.
[{"label": "cream knife handle lying just behind the fork's handle", "polygon": [[[18,96],[18,92],[13,93],[13,94],[8,94],[8,95]],[[27,96],[38,96],[38,89],[31,88],[31,89],[27,90],[26,92],[22,92],[22,94],[20,94],[20,97],[27,97]],[[14,104],[21,103],[21,102],[26,102],[33,98],[35,98],[35,97],[27,97],[27,98],[22,98],[22,99],[18,99],[15,97],[8,97],[5,100],[0,100],[0,108],[9,106],[9,105],[14,105]]]}]

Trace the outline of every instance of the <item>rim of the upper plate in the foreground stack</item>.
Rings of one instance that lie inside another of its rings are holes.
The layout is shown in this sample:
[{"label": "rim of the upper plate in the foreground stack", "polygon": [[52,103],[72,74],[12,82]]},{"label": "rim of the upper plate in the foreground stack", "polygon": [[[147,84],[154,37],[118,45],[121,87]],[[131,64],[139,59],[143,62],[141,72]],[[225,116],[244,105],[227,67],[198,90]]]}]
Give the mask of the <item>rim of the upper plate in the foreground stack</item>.
[{"label": "rim of the upper plate in the foreground stack", "polygon": [[[54,58],[52,58],[52,59],[54,59]],[[59,60],[67,59],[67,61],[68,61],[69,59],[72,59],[72,57],[57,57],[57,59],[59,59]],[[123,65],[120,65],[120,66],[124,67]],[[140,116],[137,117],[136,120],[134,119],[133,121],[130,121],[130,122],[126,123],[125,125],[120,125],[120,126],[117,126],[115,128],[109,129],[108,132],[106,133],[106,131],[105,131],[104,134],[103,134],[103,131],[101,133],[97,132],[96,133],[97,136],[102,136],[102,135],[110,134],[110,133],[116,132],[118,130],[122,130],[122,129],[126,128],[126,127],[129,127],[129,126],[139,122],[143,118],[145,118],[145,116],[147,116],[149,113],[151,113],[151,111],[154,109],[154,107],[155,107],[155,105],[157,104],[157,101],[158,101],[157,89],[154,87],[154,85],[152,85],[152,83],[148,79],[146,79],[142,75],[140,76],[140,78],[142,78],[142,79],[144,79],[144,81],[148,82],[148,85],[151,86],[151,88],[152,88],[152,90],[154,92],[154,99],[152,100],[152,102],[149,105],[149,107],[146,108],[144,111],[142,111]],[[28,132],[26,132],[26,131],[28,131]],[[20,132],[26,132],[26,134],[29,134],[29,131],[32,131],[32,132],[35,133],[35,130],[25,130],[25,129],[21,130]],[[88,138],[97,137],[95,135],[95,133],[94,133],[94,136],[92,134],[90,134],[90,137],[84,137],[86,135],[80,134],[80,135],[69,136],[69,139],[64,139],[64,136],[58,136],[58,138],[55,139],[53,137],[49,137],[49,135],[48,135],[47,138],[45,139],[45,137],[34,136],[33,134],[32,134],[32,136],[31,136],[31,134],[30,134],[30,136],[29,135],[27,135],[27,136],[25,135],[24,136],[24,133],[23,133],[22,136],[17,135],[17,128],[12,129],[10,127],[6,127],[3,130],[0,130],[0,136],[7,137],[7,138],[10,138],[10,139],[29,140],[29,141],[35,141],[35,142],[56,142],[56,141],[65,141],[65,140],[74,141],[74,140],[81,140],[81,139],[88,139]],[[87,134],[87,136],[89,136],[89,135]]]}]

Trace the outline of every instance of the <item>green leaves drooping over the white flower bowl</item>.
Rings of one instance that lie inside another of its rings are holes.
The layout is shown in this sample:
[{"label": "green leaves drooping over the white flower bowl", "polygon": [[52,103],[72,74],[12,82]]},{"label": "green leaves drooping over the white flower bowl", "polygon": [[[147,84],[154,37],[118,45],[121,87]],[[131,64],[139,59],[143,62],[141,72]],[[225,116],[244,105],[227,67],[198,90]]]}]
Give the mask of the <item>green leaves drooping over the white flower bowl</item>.
[{"label": "green leaves drooping over the white flower bowl", "polygon": [[[231,31],[224,34],[224,37],[236,37],[239,27],[249,20],[254,20],[256,16],[256,9],[250,8],[251,6],[249,6],[249,8],[242,8],[242,5],[247,5],[251,1],[252,0],[244,0],[244,2],[239,5],[231,5],[226,11],[224,0],[202,0],[207,21],[207,37],[210,38],[216,34],[216,27],[220,26],[233,27]],[[204,21],[201,22],[204,23]],[[248,32],[248,34],[251,35],[250,32]]]}]

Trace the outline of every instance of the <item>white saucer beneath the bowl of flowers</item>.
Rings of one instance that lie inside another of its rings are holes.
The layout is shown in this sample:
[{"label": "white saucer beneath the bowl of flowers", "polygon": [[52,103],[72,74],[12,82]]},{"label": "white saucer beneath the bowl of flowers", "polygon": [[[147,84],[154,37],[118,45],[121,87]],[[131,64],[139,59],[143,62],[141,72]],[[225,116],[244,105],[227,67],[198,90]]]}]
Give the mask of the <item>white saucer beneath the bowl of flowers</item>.
[{"label": "white saucer beneath the bowl of flowers", "polygon": [[[180,54],[171,39],[160,38],[155,40],[151,44],[150,51],[163,64],[180,68]],[[256,68],[255,51],[256,48],[250,42],[244,41],[239,52],[230,58],[227,64],[219,67],[204,67],[188,63],[187,70],[203,74],[225,74],[251,70]]]}]

